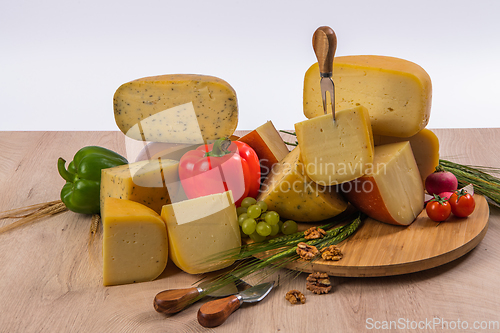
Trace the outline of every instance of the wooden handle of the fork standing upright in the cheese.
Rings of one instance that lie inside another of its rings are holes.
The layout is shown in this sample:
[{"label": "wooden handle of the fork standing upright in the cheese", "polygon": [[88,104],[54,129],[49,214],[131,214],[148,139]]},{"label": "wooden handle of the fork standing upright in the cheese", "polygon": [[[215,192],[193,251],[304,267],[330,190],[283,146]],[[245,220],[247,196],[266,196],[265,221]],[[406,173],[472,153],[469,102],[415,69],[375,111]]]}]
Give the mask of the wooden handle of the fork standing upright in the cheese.
[{"label": "wooden handle of the fork standing upright in the cheese", "polygon": [[313,49],[318,59],[319,72],[331,76],[333,57],[337,50],[337,36],[332,28],[323,26],[316,29],[313,35]]}]

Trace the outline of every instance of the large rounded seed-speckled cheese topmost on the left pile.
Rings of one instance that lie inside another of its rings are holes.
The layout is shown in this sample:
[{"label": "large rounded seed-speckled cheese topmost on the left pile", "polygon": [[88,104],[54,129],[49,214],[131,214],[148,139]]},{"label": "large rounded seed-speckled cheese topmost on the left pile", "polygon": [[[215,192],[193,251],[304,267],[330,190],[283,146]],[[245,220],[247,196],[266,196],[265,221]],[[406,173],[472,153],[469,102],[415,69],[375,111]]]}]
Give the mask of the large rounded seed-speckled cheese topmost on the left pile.
[{"label": "large rounded seed-speckled cheese topmost on the left pile", "polygon": [[135,140],[203,143],[231,136],[238,125],[234,89],[207,75],[134,80],[117,89],[113,105],[116,124]]}]

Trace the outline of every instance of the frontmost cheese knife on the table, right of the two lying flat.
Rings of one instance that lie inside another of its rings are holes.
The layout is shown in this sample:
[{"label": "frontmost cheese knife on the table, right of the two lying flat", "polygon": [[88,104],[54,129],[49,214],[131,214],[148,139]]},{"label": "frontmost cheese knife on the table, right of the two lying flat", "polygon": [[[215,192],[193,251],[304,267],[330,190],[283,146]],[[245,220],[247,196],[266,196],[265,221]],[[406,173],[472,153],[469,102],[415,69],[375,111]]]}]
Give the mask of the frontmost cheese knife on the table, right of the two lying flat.
[{"label": "frontmost cheese knife on the table, right of the two lying flat", "polygon": [[239,294],[207,302],[198,310],[198,322],[203,327],[216,327],[239,309],[243,303],[259,302],[273,289],[274,282],[258,284]]}]

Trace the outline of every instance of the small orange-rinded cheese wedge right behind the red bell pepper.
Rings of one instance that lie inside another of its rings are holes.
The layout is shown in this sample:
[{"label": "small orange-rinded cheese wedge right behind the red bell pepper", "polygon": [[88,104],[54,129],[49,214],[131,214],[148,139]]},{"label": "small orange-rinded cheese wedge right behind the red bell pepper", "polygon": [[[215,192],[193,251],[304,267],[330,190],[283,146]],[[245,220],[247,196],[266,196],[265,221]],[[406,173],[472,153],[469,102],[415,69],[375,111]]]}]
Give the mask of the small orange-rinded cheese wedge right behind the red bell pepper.
[{"label": "small orange-rinded cheese wedge right behind the red bell pepper", "polygon": [[271,121],[242,136],[238,141],[245,142],[255,150],[259,156],[263,176],[289,153],[288,147]]}]

